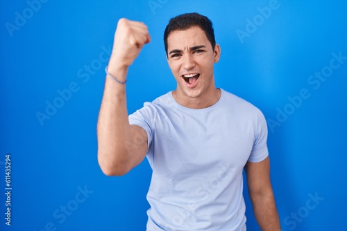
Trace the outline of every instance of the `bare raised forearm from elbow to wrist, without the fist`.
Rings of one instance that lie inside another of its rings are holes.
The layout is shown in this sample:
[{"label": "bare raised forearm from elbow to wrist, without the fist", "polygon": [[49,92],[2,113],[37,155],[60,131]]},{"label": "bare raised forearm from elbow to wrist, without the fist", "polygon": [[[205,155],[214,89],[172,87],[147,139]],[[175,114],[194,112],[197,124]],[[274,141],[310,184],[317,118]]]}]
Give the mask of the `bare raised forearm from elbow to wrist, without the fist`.
[{"label": "bare raised forearm from elbow to wrist, without the fist", "polygon": [[[128,68],[109,66],[108,71],[124,81]],[[105,174],[124,172],[128,161],[126,144],[130,142],[130,135],[125,85],[106,76],[97,126],[98,160]]]}]

